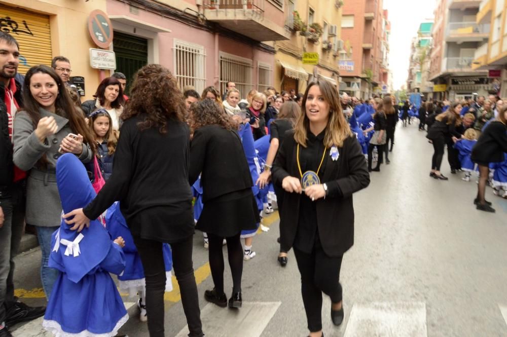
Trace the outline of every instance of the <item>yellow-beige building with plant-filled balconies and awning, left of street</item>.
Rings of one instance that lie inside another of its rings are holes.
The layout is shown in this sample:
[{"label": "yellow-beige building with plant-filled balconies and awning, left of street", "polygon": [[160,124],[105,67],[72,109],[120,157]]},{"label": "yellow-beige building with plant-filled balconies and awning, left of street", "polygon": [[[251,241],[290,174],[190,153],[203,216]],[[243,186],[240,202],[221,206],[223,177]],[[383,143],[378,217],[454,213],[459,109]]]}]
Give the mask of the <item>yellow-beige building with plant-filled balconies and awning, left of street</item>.
[{"label": "yellow-beige building with plant-filled balconies and awning, left of street", "polygon": [[[274,87],[304,92],[308,81],[320,76],[338,86],[340,69],[340,0],[286,0],[285,27],[290,39],[274,43]],[[312,53],[315,64],[305,64],[303,53]]]}]

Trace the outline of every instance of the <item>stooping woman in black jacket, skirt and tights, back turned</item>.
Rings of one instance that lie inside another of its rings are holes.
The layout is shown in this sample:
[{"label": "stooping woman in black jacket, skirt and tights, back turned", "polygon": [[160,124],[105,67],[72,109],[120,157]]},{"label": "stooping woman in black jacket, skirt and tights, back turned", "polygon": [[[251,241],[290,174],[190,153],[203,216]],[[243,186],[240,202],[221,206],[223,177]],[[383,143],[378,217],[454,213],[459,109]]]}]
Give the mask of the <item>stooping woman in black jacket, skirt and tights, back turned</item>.
[{"label": "stooping woman in black jacket, skirt and tights, back turned", "polygon": [[209,267],[214,288],[204,298],[220,307],[227,306],[224,293],[224,255],[227,239],[233,290],[230,308],[240,308],[243,273],[242,230],[256,229],[260,221],[253,198],[252,178],[235,123],[215,102],[205,99],[191,106],[194,136],[190,145],[189,182],[201,174],[203,209],[196,228],[206,232]]}]

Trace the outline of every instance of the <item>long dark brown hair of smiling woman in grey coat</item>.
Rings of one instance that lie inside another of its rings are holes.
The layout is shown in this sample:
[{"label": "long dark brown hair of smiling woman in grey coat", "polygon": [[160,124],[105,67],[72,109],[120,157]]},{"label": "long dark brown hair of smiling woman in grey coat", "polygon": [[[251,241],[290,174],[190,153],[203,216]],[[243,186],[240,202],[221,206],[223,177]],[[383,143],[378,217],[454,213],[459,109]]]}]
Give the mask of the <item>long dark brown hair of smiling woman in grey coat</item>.
[{"label": "long dark brown hair of smiling woman in grey coat", "polygon": [[[41,111],[39,110],[41,108],[41,105],[37,102],[37,100],[35,100],[35,98],[33,98],[30,91],[30,80],[36,73],[48,74],[56,82],[56,85],[58,87],[58,95],[56,96],[55,100],[55,115],[66,118],[68,120],[70,129],[74,133],[82,135],[83,142],[90,145],[93,153],[95,153],[96,147],[95,143],[93,142],[93,135],[86,125],[83,114],[77,110],[61,78],[58,76],[55,70],[48,67],[47,65],[35,65],[31,67],[26,72],[25,82],[23,83],[23,110],[26,111],[28,116],[30,116],[33,130],[37,129],[37,125],[41,120]],[[37,162],[37,167],[48,167],[48,159],[46,157],[46,154],[44,154],[41,159],[39,159]]]}]

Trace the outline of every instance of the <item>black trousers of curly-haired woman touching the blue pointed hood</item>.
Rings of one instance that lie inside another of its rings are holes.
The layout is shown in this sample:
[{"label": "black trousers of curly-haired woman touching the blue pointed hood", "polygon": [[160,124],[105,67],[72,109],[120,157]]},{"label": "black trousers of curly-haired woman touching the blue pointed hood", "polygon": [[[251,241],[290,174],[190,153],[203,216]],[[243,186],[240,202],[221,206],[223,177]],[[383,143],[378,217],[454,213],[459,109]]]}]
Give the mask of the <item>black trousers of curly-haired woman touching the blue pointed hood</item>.
[{"label": "black trousers of curly-haired woman touching the blue pointed hood", "polygon": [[[172,265],[182,296],[191,337],[202,337],[201,311],[192,262],[193,236],[171,244]],[[162,242],[134,237],[146,279],[146,312],[150,337],[164,337],[165,265]]]}]

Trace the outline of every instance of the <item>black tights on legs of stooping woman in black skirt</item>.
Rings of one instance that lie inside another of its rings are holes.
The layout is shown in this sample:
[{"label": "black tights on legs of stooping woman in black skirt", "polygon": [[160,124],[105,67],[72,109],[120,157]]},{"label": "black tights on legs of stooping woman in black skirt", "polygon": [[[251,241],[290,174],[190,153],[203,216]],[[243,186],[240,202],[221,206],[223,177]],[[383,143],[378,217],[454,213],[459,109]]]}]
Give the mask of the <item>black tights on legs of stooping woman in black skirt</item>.
[{"label": "black tights on legs of stooping woman in black skirt", "polygon": [[[241,246],[241,233],[227,239],[227,253],[229,255],[229,267],[232,274],[232,292],[241,291],[241,276],[243,275],[243,246]],[[209,268],[216,291],[224,292],[224,253],[222,251],[224,237],[208,233],[209,242]]]}]

